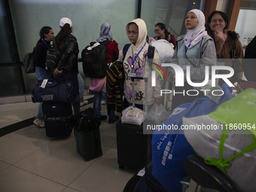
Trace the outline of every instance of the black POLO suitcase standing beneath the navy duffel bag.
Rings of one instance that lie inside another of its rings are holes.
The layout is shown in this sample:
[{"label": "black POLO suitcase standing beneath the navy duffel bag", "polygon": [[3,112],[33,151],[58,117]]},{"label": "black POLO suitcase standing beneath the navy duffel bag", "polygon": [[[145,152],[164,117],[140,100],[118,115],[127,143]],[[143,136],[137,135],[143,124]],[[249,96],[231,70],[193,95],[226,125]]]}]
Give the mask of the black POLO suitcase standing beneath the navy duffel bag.
[{"label": "black POLO suitcase standing beneath the navy duffel bag", "polygon": [[48,137],[65,137],[72,132],[69,117],[72,116],[70,102],[44,102],[44,125]]}]

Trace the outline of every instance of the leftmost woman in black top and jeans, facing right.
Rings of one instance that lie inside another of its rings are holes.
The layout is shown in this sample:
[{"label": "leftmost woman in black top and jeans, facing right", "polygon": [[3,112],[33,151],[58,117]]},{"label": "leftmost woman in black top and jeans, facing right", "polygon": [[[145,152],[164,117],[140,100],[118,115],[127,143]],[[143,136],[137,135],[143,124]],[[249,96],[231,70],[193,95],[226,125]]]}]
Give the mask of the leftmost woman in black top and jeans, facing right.
[{"label": "leftmost woman in black top and jeans, facing right", "polygon": [[[53,41],[54,32],[50,26],[44,26],[40,30],[40,39],[35,47],[34,63],[35,63],[35,75],[38,80],[44,80],[50,78],[50,71],[45,66],[45,57],[48,48],[50,47],[50,41]],[[38,106],[38,114],[35,117],[33,123],[38,127],[44,127],[44,114],[42,110],[42,102]]]}]

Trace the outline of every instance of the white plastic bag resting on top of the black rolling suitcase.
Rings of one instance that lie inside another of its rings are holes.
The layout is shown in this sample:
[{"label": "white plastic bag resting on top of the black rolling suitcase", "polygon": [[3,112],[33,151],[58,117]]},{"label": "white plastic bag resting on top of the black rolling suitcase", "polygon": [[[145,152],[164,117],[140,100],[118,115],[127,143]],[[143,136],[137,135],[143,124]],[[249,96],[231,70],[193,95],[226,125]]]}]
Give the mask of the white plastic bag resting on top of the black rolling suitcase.
[{"label": "white plastic bag resting on top of the black rolling suitcase", "polygon": [[145,111],[142,111],[140,108],[130,106],[123,109],[121,121],[122,123],[141,125],[146,118],[147,114]]}]

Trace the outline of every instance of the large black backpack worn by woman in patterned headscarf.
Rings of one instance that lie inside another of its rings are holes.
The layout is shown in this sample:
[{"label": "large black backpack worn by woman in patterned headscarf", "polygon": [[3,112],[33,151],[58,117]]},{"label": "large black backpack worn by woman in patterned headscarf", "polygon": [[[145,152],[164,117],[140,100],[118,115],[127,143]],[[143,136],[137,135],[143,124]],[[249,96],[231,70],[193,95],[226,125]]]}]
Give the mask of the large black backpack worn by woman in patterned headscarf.
[{"label": "large black backpack worn by woman in patterned headscarf", "polygon": [[104,78],[107,75],[107,41],[91,42],[81,53],[84,75],[87,78]]}]

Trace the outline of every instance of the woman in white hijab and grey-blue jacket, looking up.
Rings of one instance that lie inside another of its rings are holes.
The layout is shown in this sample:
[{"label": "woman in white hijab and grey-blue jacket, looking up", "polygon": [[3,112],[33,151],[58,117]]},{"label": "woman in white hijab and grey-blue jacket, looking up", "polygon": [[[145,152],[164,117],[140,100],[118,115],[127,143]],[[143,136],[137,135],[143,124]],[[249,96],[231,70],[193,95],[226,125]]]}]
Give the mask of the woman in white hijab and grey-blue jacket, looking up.
[{"label": "woman in white hijab and grey-blue jacket, looking up", "polygon": [[[178,63],[184,69],[184,87],[175,87],[177,94],[174,94],[172,98],[172,110],[178,105],[193,102],[205,96],[205,93],[200,91],[202,87],[192,87],[187,83],[186,67],[190,66],[190,80],[194,83],[201,83],[205,80],[205,66],[216,65],[217,59],[214,41],[206,32],[203,12],[198,9],[189,11],[185,27],[187,34],[177,38],[177,46],[172,57],[173,62]],[[209,77],[211,77],[211,70],[209,70]],[[193,96],[188,96],[187,90],[194,90],[190,93]]]}]

